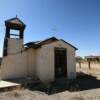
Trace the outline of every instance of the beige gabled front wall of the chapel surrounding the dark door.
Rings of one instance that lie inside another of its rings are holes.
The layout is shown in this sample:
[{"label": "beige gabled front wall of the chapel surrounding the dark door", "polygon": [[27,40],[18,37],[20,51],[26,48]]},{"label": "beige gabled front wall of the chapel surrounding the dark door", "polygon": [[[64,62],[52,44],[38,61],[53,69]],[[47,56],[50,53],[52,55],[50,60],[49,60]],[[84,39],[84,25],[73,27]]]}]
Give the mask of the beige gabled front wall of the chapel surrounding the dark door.
[{"label": "beige gabled front wall of the chapel surrounding the dark door", "polygon": [[76,78],[75,68],[75,49],[65,44],[62,41],[53,42],[51,44],[43,45],[37,50],[36,68],[37,75],[42,81],[54,81],[54,48],[67,49],[67,79]]}]

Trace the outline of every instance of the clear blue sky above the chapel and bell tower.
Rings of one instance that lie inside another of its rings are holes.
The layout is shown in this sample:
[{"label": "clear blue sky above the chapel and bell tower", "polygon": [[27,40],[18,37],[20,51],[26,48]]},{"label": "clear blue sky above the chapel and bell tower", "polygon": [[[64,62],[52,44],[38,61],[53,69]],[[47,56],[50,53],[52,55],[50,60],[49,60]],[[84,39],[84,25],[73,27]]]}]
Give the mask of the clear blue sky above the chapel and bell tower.
[{"label": "clear blue sky above the chapel and bell tower", "polygon": [[100,55],[100,0],[0,0],[0,56],[4,21],[16,14],[27,25],[24,43],[55,36],[77,55]]}]

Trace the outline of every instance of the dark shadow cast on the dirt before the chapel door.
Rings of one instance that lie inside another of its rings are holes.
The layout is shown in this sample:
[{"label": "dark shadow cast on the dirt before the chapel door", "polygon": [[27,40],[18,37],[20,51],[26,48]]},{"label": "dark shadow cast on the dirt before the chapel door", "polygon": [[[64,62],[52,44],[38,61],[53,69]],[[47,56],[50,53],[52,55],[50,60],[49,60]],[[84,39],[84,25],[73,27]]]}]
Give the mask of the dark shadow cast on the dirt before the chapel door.
[{"label": "dark shadow cast on the dirt before the chapel door", "polygon": [[28,88],[33,91],[38,90],[51,95],[66,90],[70,92],[77,92],[77,91],[100,88],[100,80],[97,80],[96,77],[91,75],[87,75],[84,73],[77,73],[76,80],[68,81],[65,79],[58,79],[55,82],[49,84],[39,83],[35,85],[30,85]]}]

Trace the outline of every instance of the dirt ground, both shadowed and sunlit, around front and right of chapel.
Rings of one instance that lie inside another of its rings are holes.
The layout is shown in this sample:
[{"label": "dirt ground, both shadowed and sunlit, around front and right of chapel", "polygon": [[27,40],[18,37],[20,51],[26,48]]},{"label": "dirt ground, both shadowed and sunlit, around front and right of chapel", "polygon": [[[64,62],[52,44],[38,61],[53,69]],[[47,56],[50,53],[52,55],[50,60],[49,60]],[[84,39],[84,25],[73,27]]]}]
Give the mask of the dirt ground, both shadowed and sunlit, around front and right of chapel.
[{"label": "dirt ground, both shadowed and sunlit, around front and right of chapel", "polygon": [[[84,65],[84,64],[83,64]],[[85,66],[85,65],[84,65]],[[1,92],[0,100],[100,100],[100,66],[79,68],[77,79],[36,84],[27,89]],[[66,85],[67,84],[67,85]]]}]

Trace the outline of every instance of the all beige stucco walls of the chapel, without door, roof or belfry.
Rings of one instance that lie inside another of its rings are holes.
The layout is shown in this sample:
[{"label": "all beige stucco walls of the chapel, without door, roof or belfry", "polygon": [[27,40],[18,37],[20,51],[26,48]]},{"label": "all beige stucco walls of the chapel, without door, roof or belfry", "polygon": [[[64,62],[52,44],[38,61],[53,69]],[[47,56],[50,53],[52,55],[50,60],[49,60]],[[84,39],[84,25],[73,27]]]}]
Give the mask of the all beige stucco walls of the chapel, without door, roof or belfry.
[{"label": "all beige stucco walls of the chapel, without door, roof or belfry", "polygon": [[[76,77],[75,49],[62,41],[23,51],[23,40],[9,39],[8,56],[1,64],[1,78],[37,76],[42,81],[55,80],[54,48],[67,49],[67,79]],[[22,51],[22,52],[20,52]]]}]

